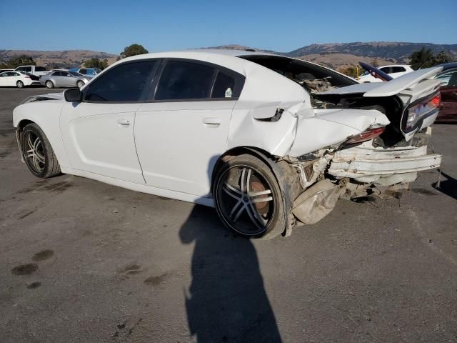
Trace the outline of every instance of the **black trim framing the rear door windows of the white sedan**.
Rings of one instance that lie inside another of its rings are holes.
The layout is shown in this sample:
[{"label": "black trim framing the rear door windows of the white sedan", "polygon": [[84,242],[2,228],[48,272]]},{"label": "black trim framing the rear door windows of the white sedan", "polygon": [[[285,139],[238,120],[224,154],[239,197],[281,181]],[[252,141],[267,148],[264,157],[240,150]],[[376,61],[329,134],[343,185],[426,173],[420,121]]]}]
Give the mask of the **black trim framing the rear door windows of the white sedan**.
[{"label": "black trim framing the rear door windows of the white sedan", "polygon": [[[209,66],[214,69],[213,80],[211,81],[211,90],[209,91],[209,97],[207,98],[199,98],[199,99],[164,99],[164,100],[156,100],[156,93],[157,87],[159,85],[159,81],[161,79],[162,73],[165,69],[166,62],[168,61],[179,61],[179,62],[186,62],[186,63],[194,63],[194,64],[201,64],[204,66]],[[233,89],[233,95],[230,98],[211,98],[214,90],[214,84],[216,83],[217,75],[219,71],[224,72],[225,74],[229,74],[233,76],[235,79],[235,87]],[[226,68],[225,66],[221,66],[219,64],[214,64],[207,61],[200,61],[199,59],[186,59],[186,58],[179,58],[179,57],[166,57],[162,59],[159,69],[156,71],[156,75],[154,76],[154,81],[151,83],[151,88],[149,89],[148,96],[146,98],[147,104],[154,104],[154,103],[163,103],[163,102],[199,102],[199,101],[237,101],[241,95],[241,91],[243,91],[244,82],[246,81],[246,76],[239,74],[238,72]]]}]

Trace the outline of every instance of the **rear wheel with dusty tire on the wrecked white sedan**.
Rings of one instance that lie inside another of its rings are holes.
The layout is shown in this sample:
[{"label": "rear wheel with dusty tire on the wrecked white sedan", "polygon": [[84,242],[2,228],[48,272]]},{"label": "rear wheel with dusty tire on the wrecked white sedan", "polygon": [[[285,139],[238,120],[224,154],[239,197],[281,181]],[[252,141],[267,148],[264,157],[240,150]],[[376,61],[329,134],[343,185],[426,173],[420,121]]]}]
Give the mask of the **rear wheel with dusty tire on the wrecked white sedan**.
[{"label": "rear wheel with dusty tire on the wrecked white sedan", "polygon": [[261,159],[243,154],[225,161],[214,179],[213,196],[221,221],[243,237],[271,239],[286,229],[281,189]]}]

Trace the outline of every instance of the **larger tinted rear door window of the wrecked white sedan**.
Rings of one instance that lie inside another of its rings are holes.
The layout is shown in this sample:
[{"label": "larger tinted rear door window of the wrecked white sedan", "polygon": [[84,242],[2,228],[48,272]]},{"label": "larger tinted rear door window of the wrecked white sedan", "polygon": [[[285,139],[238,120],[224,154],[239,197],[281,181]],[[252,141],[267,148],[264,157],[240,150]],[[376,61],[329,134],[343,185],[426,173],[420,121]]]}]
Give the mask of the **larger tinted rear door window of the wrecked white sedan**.
[{"label": "larger tinted rear door window of the wrecked white sedan", "polygon": [[160,76],[156,100],[209,98],[214,68],[203,64],[168,61]]}]

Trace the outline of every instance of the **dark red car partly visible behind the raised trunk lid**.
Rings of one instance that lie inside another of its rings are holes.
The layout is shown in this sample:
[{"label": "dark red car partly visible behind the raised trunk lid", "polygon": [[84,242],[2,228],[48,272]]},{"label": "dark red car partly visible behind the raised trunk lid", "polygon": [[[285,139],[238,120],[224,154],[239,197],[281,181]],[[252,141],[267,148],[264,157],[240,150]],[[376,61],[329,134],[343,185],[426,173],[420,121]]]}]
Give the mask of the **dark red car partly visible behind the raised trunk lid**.
[{"label": "dark red car partly visible behind the raised trunk lid", "polygon": [[457,121],[457,62],[439,66],[443,71],[435,77],[441,81],[441,106],[436,121]]}]

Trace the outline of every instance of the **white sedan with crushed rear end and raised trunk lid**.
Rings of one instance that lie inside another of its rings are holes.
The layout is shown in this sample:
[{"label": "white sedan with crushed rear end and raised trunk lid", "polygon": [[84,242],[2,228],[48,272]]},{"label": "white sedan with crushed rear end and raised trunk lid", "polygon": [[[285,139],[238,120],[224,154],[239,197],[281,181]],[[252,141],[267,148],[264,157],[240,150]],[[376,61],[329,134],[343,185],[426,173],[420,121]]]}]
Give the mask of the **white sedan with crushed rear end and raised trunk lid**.
[{"label": "white sedan with crushed rear end and raised trunk lid", "polygon": [[358,84],[266,53],[145,54],[81,90],[31,96],[14,127],[36,177],[214,206],[230,229],[271,238],[318,222],[341,197],[390,197],[438,167],[427,141],[439,71]]}]

